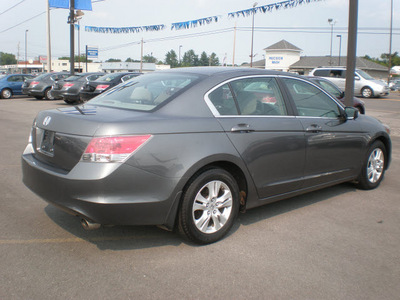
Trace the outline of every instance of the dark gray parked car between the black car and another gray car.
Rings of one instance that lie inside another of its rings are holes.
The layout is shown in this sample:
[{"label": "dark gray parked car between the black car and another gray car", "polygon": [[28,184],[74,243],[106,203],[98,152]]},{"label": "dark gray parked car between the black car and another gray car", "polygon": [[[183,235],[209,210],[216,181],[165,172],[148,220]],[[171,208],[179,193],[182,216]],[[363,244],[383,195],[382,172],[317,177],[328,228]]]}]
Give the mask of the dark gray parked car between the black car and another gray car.
[{"label": "dark gray parked car between the black car and another gray car", "polygon": [[51,94],[54,98],[63,99],[68,104],[80,102],[79,92],[88,81],[96,80],[105,73],[77,73],[53,83]]}]

